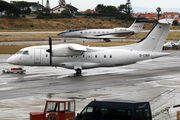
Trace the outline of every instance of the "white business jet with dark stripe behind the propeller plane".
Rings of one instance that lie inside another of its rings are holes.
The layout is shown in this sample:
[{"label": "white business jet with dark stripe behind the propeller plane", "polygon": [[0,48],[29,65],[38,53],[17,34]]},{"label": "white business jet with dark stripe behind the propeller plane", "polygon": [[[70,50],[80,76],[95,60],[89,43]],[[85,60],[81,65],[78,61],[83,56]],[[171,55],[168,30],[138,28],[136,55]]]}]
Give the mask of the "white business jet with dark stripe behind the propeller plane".
[{"label": "white business jet with dark stripe behind the propeller plane", "polygon": [[140,33],[144,23],[149,21],[145,18],[137,18],[129,28],[114,29],[68,29],[58,34],[63,37],[80,37],[87,39],[104,39],[110,42],[110,39],[130,37],[133,34]]}]

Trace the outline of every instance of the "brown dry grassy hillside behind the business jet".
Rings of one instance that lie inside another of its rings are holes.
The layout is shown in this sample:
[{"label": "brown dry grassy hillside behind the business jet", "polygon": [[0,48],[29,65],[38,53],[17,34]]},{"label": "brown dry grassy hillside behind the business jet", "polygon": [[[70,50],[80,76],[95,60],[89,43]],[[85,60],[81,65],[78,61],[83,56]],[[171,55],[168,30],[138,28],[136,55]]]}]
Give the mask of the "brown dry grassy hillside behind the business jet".
[{"label": "brown dry grassy hillside behind the business jet", "polygon": [[[106,18],[64,18],[64,19],[9,19],[0,18],[1,30],[17,31],[62,31],[73,28],[114,28],[129,27],[133,21]],[[146,23],[144,29],[151,29],[152,23]]]}]

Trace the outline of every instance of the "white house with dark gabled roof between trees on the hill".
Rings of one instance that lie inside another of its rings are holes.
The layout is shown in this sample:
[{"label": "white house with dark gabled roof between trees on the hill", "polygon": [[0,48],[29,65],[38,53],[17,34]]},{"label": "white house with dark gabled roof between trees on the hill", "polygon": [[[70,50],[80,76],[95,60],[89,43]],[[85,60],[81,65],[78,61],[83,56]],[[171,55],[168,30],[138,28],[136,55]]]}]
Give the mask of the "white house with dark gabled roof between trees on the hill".
[{"label": "white house with dark gabled roof between trees on the hill", "polygon": [[61,13],[63,10],[69,10],[71,13],[77,13],[77,8],[71,4],[66,4],[65,0],[60,0],[59,5],[50,10],[51,13]]}]

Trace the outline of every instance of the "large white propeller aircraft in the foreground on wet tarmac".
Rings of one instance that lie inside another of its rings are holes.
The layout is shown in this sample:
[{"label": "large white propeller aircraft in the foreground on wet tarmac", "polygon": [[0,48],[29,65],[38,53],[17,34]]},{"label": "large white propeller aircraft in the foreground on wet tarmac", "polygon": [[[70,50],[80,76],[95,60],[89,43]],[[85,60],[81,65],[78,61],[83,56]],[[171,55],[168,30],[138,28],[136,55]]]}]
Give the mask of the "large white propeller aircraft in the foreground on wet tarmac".
[{"label": "large white propeller aircraft in the foreground on wet tarmac", "polygon": [[58,44],[26,47],[7,59],[7,63],[22,66],[55,66],[74,69],[114,67],[169,55],[162,53],[172,19],[162,19],[138,43],[115,47],[90,47],[79,44]]}]

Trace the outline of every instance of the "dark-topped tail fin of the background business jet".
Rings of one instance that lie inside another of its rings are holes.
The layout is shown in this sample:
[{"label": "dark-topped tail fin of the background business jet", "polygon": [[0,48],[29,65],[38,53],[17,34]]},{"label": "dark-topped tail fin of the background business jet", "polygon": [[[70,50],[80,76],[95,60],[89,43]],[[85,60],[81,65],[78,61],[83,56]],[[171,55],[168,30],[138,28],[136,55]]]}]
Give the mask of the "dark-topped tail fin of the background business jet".
[{"label": "dark-topped tail fin of the background business jet", "polygon": [[144,27],[145,22],[148,22],[149,19],[146,18],[137,18],[134,23],[129,27],[134,31],[134,33],[140,33]]}]

